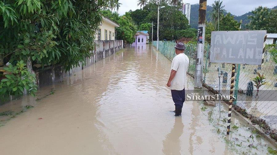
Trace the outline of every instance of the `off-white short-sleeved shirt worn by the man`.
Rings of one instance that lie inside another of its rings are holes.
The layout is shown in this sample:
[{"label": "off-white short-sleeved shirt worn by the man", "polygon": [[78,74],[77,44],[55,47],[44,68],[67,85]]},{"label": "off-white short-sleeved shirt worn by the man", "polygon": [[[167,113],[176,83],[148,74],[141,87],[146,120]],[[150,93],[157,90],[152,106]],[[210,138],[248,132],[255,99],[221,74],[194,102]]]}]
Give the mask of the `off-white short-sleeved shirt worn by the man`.
[{"label": "off-white short-sleeved shirt worn by the man", "polygon": [[175,77],[171,81],[171,90],[183,90],[185,88],[185,81],[187,78],[187,67],[189,59],[184,53],[176,55],[171,63],[171,70],[177,71]]}]

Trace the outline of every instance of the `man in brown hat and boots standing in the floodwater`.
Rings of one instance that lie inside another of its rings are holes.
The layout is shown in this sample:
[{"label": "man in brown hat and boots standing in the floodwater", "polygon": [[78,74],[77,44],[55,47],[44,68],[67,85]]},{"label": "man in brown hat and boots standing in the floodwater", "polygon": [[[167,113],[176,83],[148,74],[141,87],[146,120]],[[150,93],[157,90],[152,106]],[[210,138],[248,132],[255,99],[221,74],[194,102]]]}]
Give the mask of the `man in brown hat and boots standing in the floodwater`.
[{"label": "man in brown hat and boots standing in the floodwater", "polygon": [[175,116],[182,113],[183,103],[185,102],[185,81],[189,59],[184,54],[185,45],[177,43],[175,45],[176,56],[171,63],[170,77],[167,86],[171,89],[171,96],[175,103]]}]

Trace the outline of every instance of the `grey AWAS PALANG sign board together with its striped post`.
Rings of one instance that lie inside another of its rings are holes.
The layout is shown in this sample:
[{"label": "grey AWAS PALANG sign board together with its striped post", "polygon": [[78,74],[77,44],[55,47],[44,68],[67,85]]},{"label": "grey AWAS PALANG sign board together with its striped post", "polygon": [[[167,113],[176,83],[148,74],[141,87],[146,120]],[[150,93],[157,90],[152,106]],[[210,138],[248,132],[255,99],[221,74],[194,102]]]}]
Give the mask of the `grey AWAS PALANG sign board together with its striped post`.
[{"label": "grey AWAS PALANG sign board together with its striped post", "polygon": [[235,64],[261,65],[263,63],[266,35],[266,30],[213,31],[211,33],[210,62],[232,64],[227,135],[230,134],[231,126]]}]

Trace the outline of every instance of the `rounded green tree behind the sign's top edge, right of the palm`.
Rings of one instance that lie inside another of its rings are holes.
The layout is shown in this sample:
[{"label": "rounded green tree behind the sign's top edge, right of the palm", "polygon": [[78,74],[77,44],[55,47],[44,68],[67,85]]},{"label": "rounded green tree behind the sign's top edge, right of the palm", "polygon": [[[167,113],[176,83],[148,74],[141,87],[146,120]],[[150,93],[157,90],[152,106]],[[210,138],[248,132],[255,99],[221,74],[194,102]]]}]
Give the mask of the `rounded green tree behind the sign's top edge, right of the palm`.
[{"label": "rounded green tree behind the sign's top edge, right of the palm", "polygon": [[240,24],[234,19],[234,16],[231,16],[231,13],[227,13],[219,21],[219,30],[220,31],[238,31]]}]

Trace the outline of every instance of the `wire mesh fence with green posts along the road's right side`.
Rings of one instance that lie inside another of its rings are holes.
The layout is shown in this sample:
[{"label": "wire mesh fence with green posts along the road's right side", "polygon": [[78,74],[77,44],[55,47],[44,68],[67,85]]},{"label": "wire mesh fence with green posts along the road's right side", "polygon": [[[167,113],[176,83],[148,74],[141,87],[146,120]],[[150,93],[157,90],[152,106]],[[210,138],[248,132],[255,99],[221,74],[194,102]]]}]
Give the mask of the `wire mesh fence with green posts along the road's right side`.
[{"label": "wire mesh fence with green posts along the road's right side", "polygon": [[[157,41],[153,41],[153,45],[157,47]],[[159,41],[159,51],[170,60],[176,55],[174,46],[174,41]],[[185,47],[184,53],[190,59],[187,72],[194,76],[197,45],[185,44]],[[264,62],[260,66],[236,64],[234,92],[237,99],[233,104],[240,107],[240,113],[250,118],[254,125],[259,125],[266,134],[271,134],[271,137],[277,140],[277,53],[270,52],[271,48],[265,51]],[[203,83],[218,90],[218,67],[220,66],[221,94],[230,95],[232,64],[211,63],[209,56],[210,45],[205,45]],[[259,74],[264,77],[259,77]],[[256,81],[253,78],[256,78]]]}]

